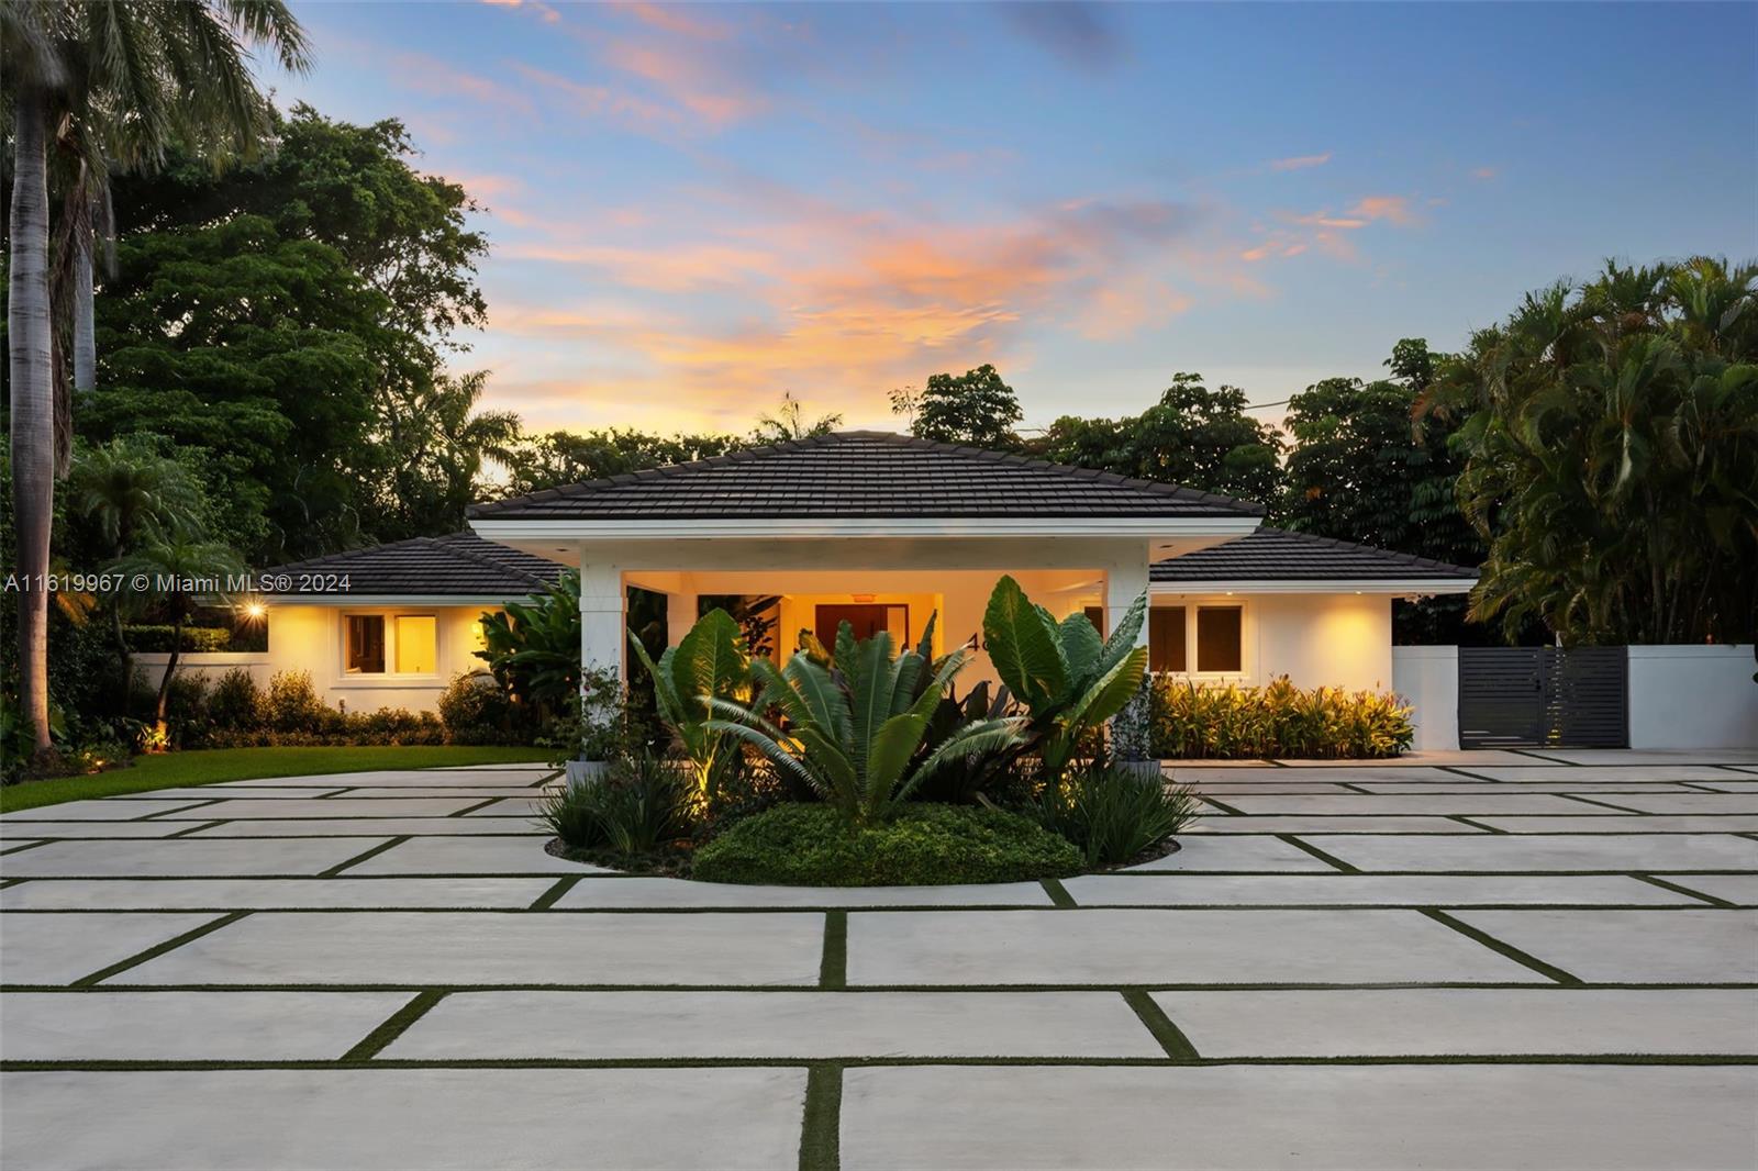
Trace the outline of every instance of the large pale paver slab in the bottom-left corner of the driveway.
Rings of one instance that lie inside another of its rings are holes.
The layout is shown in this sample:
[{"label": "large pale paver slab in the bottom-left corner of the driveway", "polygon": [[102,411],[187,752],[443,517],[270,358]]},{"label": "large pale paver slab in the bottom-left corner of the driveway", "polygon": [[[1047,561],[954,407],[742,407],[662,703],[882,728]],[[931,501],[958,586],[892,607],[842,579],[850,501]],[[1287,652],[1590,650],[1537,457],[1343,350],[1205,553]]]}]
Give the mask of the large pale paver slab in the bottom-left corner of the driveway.
[{"label": "large pale paver slab in the bottom-left corner of the driveway", "polygon": [[803,1069],[251,1069],[4,1076],[33,1171],[791,1167]]}]

